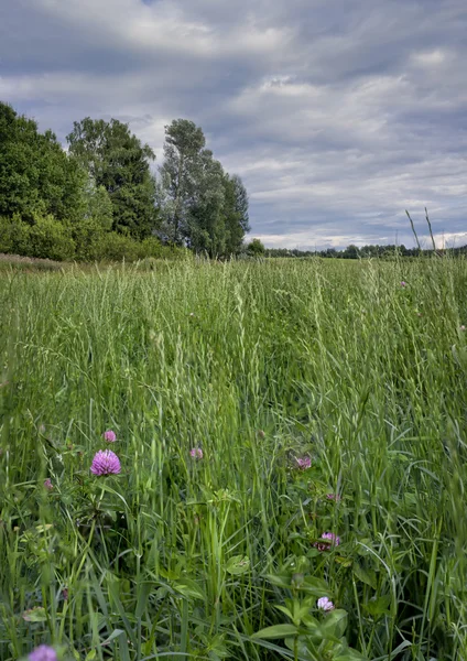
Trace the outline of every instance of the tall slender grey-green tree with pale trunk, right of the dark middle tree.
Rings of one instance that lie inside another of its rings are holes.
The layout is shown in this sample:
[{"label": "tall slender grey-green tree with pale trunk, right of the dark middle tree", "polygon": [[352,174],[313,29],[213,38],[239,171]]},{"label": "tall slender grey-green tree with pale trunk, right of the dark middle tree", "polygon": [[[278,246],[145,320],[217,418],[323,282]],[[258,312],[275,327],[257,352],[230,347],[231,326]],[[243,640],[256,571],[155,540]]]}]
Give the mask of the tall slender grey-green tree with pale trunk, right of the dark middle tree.
[{"label": "tall slender grey-green tree with pale trunk, right of the dark middle tree", "polygon": [[165,127],[164,163],[160,167],[164,197],[164,234],[183,243],[189,234],[189,207],[202,176],[203,130],[188,119],[175,119]]}]

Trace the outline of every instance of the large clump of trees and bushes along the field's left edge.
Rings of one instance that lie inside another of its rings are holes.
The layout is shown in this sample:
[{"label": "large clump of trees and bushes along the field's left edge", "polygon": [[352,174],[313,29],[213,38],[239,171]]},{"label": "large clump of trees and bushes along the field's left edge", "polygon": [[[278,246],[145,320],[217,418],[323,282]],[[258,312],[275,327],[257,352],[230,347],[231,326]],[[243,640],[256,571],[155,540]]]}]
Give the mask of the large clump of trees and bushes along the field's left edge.
[{"label": "large clump of trees and bushes along the field's left edge", "polygon": [[0,252],[57,260],[229,257],[245,249],[248,194],[187,119],[165,127],[164,161],[117,119],[56,136],[0,102]]}]

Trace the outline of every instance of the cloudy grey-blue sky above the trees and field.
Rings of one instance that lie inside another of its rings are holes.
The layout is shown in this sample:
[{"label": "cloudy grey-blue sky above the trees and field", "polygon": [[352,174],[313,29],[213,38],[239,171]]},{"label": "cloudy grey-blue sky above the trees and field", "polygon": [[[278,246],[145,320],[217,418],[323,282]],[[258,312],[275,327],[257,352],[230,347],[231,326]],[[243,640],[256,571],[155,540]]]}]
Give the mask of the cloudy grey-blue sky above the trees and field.
[{"label": "cloudy grey-blue sky above the trees and field", "polygon": [[[466,0],[0,0],[0,100],[200,126],[276,248],[467,243]],[[422,238],[422,241],[425,239]]]}]

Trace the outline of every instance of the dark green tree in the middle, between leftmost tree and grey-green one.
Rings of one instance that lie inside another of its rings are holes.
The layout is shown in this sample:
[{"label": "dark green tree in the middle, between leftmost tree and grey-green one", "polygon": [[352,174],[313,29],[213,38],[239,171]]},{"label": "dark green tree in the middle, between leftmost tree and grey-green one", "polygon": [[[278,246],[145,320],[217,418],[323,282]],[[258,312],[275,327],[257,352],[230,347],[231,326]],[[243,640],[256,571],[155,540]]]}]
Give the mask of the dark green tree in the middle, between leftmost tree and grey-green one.
[{"label": "dark green tree in the middle, between leftmost tree and grey-green one", "polygon": [[148,144],[117,119],[89,117],[74,122],[67,136],[69,152],[87,171],[97,189],[104,187],[112,205],[112,229],[135,239],[151,236],[158,225],[155,182]]}]

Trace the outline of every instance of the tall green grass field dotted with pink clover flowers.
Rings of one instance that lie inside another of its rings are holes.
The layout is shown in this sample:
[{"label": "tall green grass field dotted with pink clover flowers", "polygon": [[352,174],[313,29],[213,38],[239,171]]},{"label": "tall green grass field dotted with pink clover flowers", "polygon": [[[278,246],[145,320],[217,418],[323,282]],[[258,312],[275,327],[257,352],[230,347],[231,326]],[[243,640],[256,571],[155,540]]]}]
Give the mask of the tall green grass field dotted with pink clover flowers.
[{"label": "tall green grass field dotted with pink clover flowers", "polygon": [[1,661],[467,659],[464,324],[461,259],[2,271]]}]

